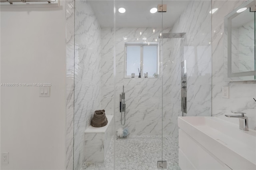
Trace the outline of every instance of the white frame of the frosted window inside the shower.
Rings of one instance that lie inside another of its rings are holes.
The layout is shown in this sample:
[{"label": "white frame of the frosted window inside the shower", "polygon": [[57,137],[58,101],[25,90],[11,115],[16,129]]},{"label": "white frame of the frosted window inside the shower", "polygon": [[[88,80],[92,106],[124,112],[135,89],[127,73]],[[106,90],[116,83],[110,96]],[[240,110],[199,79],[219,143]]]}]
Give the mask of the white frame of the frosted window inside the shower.
[{"label": "white frame of the frosted window inside the shower", "polygon": [[[156,63],[156,71],[159,75],[159,42],[125,42],[124,44],[124,78],[132,78],[132,75],[127,75],[127,46],[140,46],[140,67],[142,68],[141,70],[141,77],[144,77],[143,75],[143,46],[148,46],[148,45],[154,45],[157,46],[157,63]],[[135,77],[138,76],[135,73]],[[134,77],[134,78],[135,78]],[[137,77],[138,78],[138,77]],[[148,78],[157,78],[153,77],[153,75],[148,75]]]}]

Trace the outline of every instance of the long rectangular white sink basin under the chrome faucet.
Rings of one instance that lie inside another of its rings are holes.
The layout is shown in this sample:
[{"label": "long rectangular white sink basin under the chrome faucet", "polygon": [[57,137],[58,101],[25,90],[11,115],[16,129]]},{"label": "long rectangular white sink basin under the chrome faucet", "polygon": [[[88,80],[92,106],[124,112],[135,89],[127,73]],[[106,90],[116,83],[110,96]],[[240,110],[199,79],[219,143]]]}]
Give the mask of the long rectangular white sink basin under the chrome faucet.
[{"label": "long rectangular white sink basin under the chrome faucet", "polygon": [[233,170],[256,169],[256,131],[240,130],[239,121],[178,117],[178,126]]}]

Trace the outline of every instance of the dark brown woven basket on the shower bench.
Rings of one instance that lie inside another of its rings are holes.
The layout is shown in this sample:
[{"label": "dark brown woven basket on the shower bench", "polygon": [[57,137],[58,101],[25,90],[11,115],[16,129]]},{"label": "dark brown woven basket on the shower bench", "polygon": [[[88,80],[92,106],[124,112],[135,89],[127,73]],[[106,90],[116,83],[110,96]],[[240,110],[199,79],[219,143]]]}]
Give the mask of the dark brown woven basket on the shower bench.
[{"label": "dark brown woven basket on the shower bench", "polygon": [[108,124],[108,119],[105,115],[105,110],[97,110],[94,112],[91,125],[93,127],[104,127]]}]

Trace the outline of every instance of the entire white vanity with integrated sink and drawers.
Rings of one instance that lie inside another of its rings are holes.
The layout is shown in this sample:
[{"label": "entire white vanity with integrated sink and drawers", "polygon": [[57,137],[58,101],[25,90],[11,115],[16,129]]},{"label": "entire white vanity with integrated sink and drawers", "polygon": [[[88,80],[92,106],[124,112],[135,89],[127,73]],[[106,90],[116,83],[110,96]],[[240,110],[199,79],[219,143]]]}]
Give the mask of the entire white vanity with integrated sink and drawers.
[{"label": "entire white vanity with integrated sink and drawers", "polygon": [[216,117],[178,117],[182,170],[256,170],[256,131]]}]

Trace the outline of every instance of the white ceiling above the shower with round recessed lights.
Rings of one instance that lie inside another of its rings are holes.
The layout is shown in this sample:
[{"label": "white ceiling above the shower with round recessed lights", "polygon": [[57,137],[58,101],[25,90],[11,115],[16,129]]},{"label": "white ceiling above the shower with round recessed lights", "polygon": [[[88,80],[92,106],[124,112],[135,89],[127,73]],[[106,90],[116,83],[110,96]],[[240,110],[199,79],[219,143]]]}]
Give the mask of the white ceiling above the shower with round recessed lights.
[{"label": "white ceiling above the shower with round recessed lights", "polygon": [[[102,28],[114,25],[114,0],[89,0],[98,22]],[[167,12],[150,13],[151,8],[157,8],[162,0],[116,0],[116,27],[125,28],[170,28],[186,10],[189,0],[163,0],[167,4]],[[121,14],[118,8],[123,7],[126,12]]]}]

